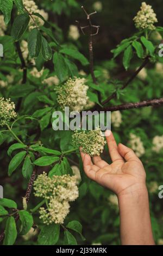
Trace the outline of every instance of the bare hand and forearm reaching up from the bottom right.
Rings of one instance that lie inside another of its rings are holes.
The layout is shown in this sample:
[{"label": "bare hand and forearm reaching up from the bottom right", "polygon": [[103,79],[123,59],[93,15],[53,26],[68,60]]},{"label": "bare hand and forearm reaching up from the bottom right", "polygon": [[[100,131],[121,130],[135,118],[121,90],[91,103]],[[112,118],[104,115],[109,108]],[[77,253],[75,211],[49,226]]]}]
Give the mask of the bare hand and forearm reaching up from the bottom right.
[{"label": "bare hand and forearm reaching up from the bottom right", "polygon": [[86,175],[117,194],[120,208],[122,245],[154,245],[149,214],[146,173],[134,151],[118,144],[110,131],[106,131],[111,164],[100,156],[91,157],[82,152]]}]

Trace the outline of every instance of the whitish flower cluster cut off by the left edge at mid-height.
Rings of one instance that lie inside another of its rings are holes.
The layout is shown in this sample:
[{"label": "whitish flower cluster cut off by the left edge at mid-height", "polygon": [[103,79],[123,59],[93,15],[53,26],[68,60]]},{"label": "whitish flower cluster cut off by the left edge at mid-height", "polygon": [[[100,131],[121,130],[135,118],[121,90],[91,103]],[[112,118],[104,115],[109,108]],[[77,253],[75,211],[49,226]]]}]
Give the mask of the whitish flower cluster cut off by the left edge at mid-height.
[{"label": "whitish flower cluster cut off by the left edge at mid-height", "polygon": [[10,99],[0,97],[0,126],[9,124],[10,119],[16,117],[15,104]]}]

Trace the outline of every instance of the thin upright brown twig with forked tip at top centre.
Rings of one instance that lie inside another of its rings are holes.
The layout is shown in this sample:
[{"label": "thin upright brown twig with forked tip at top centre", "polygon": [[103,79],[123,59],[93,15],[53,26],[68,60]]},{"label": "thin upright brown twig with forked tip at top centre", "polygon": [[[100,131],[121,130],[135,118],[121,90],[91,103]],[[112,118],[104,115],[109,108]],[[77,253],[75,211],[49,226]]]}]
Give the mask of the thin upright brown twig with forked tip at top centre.
[{"label": "thin upright brown twig with forked tip at top centre", "polygon": [[[97,35],[98,32],[99,32],[99,26],[95,26],[95,25],[92,25],[92,22],[91,22],[91,19],[90,19],[90,16],[93,15],[93,14],[96,14],[97,11],[94,11],[93,13],[91,14],[87,14],[85,8],[82,6],[82,9],[84,10],[85,14],[86,14],[86,17],[87,17],[87,20],[89,21],[89,25],[88,26],[85,26],[85,27],[82,27],[80,26],[80,29],[82,30],[83,34],[84,33],[84,29],[85,28],[89,28],[89,58],[90,58],[90,72],[91,72],[91,77],[92,77],[92,80],[93,80],[93,83],[95,83],[96,85],[98,85],[97,83],[97,80],[96,80],[96,77],[95,77],[95,73],[94,73],[94,61],[93,61],[93,41],[92,41],[92,36],[94,35]],[[78,22],[78,21],[77,21]],[[78,22],[79,23],[79,22]],[[93,33],[92,32],[92,28],[96,28],[97,31],[96,33]],[[99,102],[101,103],[101,93],[97,90],[97,94],[98,94],[98,100]]]}]

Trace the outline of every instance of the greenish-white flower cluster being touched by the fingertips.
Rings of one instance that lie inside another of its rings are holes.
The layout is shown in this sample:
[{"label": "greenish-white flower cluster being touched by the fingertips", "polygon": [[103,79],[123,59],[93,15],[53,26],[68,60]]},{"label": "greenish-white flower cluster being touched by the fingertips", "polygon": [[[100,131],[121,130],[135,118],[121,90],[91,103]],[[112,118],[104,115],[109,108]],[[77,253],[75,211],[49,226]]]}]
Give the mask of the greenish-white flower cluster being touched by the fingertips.
[{"label": "greenish-white flower cluster being touched by the fingertips", "polygon": [[90,156],[99,156],[103,152],[106,141],[99,127],[95,130],[78,132],[75,131],[72,135],[73,144],[77,147],[82,147],[83,153]]}]

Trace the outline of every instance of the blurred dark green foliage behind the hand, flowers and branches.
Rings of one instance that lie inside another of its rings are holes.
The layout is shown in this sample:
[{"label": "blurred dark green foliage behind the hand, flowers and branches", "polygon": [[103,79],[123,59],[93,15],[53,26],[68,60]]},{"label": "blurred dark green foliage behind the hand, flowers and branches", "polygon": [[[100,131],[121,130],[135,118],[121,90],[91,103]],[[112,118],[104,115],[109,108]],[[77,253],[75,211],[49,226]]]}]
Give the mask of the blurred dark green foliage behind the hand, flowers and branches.
[{"label": "blurred dark green foliage behind the hand, flowers and branches", "polygon": [[[54,44],[53,51],[56,49],[59,51],[59,46],[54,43],[57,40],[63,48],[72,48],[73,50],[79,51],[84,56],[88,56],[88,44],[87,36],[80,34],[80,38],[77,41],[73,41],[68,38],[68,29],[70,25],[76,25],[75,20],[79,20],[82,24],[86,22],[83,11],[80,5],[84,5],[89,13],[92,12],[92,4],[95,1],[60,1],[60,0],[50,0],[47,1],[36,1],[40,9],[43,8],[49,14],[49,22],[52,23],[52,35],[47,36],[42,33],[43,36]],[[142,63],[142,60],[134,56],[131,60],[130,67],[128,71],[123,68],[122,56],[118,56],[116,60],[111,60],[112,53],[110,52],[112,48],[115,48],[117,44],[120,44],[121,40],[129,38],[132,36],[136,29],[133,23],[133,17],[136,15],[137,10],[139,10],[141,1],[129,1],[129,0],[110,0],[101,1],[103,4],[103,9],[96,16],[93,16],[93,23],[95,25],[101,26],[99,34],[93,38],[94,41],[94,55],[95,55],[95,70],[97,74],[97,80],[103,88],[102,97],[105,99],[109,96],[114,89],[110,79],[103,78],[103,70],[108,70],[110,77],[116,80],[125,81],[134,70]],[[158,26],[163,24],[163,6],[162,1],[147,1],[148,4],[152,4],[153,9],[158,17]],[[15,8],[15,7],[14,7]],[[16,8],[13,13],[16,13]],[[15,14],[14,13],[14,14]],[[15,15],[16,16],[16,15]],[[12,17],[12,19],[15,19]],[[29,71],[32,69],[30,62],[28,62],[28,74],[27,83],[19,84],[22,78],[22,71],[20,71],[21,63],[16,52],[13,39],[10,36],[11,23],[9,23],[8,31],[5,36],[0,37],[0,43],[4,45],[4,58],[0,59],[0,79],[5,81],[5,77],[8,74],[14,75],[14,82],[7,88],[1,89],[0,95],[4,97],[10,97],[12,101],[16,103],[18,115],[30,116],[38,109],[43,109],[49,107],[49,113],[44,115],[39,123],[32,119],[20,119],[13,126],[13,130],[18,137],[26,144],[29,145],[42,143],[44,147],[49,149],[55,149],[59,151],[67,151],[73,148],[71,142],[71,131],[54,132],[50,124],[52,110],[56,109],[56,95],[53,90],[42,86],[41,81],[48,74],[56,74],[57,70],[54,68],[57,62],[51,60],[46,61],[43,65],[45,66],[45,71],[43,76],[39,79],[32,77]],[[163,32],[160,32],[163,35]],[[26,39],[29,36],[29,32],[23,34],[22,38]],[[52,38],[54,37],[54,40]],[[53,47],[53,44],[51,46]],[[34,53],[35,54],[35,53]],[[57,53],[56,53],[57,54]],[[89,66],[87,65],[87,60],[84,57],[78,56],[76,52],[76,57],[71,58],[67,54],[67,61],[72,61],[76,66],[72,67],[72,72],[76,73],[76,70],[83,69],[89,81],[91,77],[89,75]],[[51,52],[49,51],[49,56]],[[48,57],[49,57],[48,56]],[[78,56],[78,57],[77,57]],[[74,54],[73,54],[74,57]],[[50,58],[50,57],[49,57]],[[59,58],[59,57],[58,57]],[[74,60],[74,59],[78,60]],[[84,59],[83,59],[84,58]],[[157,61],[163,63],[163,59],[157,58]],[[41,65],[38,61],[38,66]],[[84,64],[84,65],[83,65]],[[59,67],[60,69],[60,67]],[[59,71],[58,71],[59,72]],[[60,80],[64,70],[61,70]],[[57,74],[58,75],[58,74]],[[64,76],[64,75],[63,75]],[[125,103],[125,102],[137,102],[144,99],[153,99],[155,97],[161,97],[163,93],[163,74],[156,73],[155,63],[149,63],[147,69],[147,78],[145,81],[140,78],[135,78],[135,80],[128,86],[124,95],[120,95],[120,99],[115,99],[111,101],[111,104]],[[90,83],[91,84],[91,83]],[[113,88],[112,88],[113,87]],[[90,91],[93,90],[90,88]],[[93,92],[95,94],[95,92]],[[45,95],[48,97],[45,98]],[[39,96],[43,96],[40,99]],[[96,101],[96,95],[93,99]],[[129,133],[135,133],[139,136],[143,142],[146,149],[145,155],[141,157],[141,160],[145,166],[147,172],[147,186],[149,187],[150,182],[156,181],[159,185],[163,184],[163,172],[162,172],[162,154],[163,151],[156,154],[152,151],[152,139],[156,135],[163,135],[163,121],[162,121],[162,111],[163,107],[148,107],[143,109],[131,109],[130,111],[123,111],[122,113],[122,124],[120,127],[112,127],[112,131],[116,137],[117,143],[122,142],[127,144],[129,141]],[[16,171],[9,177],[8,176],[8,166],[11,160],[11,156],[7,155],[8,148],[15,143],[13,137],[10,133],[1,132],[1,172],[0,172],[0,183],[4,187],[4,197],[14,200],[17,203],[17,208],[22,209],[22,197],[26,192],[29,177],[24,179],[22,176],[22,166],[18,167]],[[17,153],[20,150],[17,151]],[[15,152],[12,153],[12,157]],[[105,190],[105,188],[97,185],[95,182],[90,181],[86,178],[82,162],[80,160],[79,153],[66,155],[70,165],[74,165],[74,162],[80,168],[80,174],[82,176],[82,181],[79,185],[79,198],[71,204],[70,214],[66,217],[65,225],[73,220],[79,221],[83,225],[83,235],[85,241],[82,240],[80,235],[72,231],[72,234],[76,236],[79,244],[91,244],[91,243],[102,243],[103,245],[119,245],[120,244],[120,234],[119,234],[119,213],[117,206],[109,203],[109,196],[112,194],[110,191]],[[107,148],[104,151],[103,157],[105,160],[110,161],[108,157]],[[69,167],[67,167],[69,168]],[[44,170],[40,170],[40,173]],[[158,198],[158,191],[155,193],[149,193],[149,202],[151,208],[152,226],[154,232],[155,241],[158,242],[159,239],[163,239],[163,204],[162,200]],[[30,199],[28,209],[34,208],[34,206],[39,203],[33,195]],[[10,217],[11,218],[11,217]],[[12,222],[12,218],[10,222]],[[39,215],[34,215],[34,223],[42,227],[42,223],[39,220]],[[5,221],[1,224],[1,229],[5,227]],[[57,234],[58,231],[56,231]],[[62,244],[64,241],[64,230],[60,231],[60,238],[57,244]],[[12,242],[12,241],[11,241]],[[72,241],[73,243],[73,241]],[[21,235],[17,236],[17,245],[37,245],[37,236],[32,240],[24,241]]]}]

